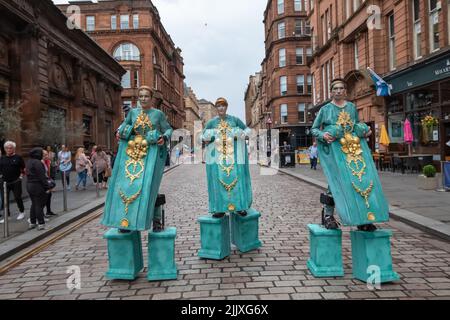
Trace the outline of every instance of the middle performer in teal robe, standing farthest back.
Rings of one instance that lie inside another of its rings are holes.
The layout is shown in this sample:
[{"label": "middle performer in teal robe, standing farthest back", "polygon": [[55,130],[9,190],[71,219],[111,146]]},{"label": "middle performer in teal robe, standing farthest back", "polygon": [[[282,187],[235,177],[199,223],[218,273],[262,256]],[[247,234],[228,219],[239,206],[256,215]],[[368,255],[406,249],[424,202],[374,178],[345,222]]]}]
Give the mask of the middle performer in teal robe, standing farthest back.
[{"label": "middle performer in teal robe, standing farthest back", "polygon": [[226,99],[219,98],[215,106],[219,116],[206,124],[202,135],[207,143],[209,212],[215,218],[227,212],[246,216],[253,201],[245,142],[250,129],[239,118],[227,115]]}]

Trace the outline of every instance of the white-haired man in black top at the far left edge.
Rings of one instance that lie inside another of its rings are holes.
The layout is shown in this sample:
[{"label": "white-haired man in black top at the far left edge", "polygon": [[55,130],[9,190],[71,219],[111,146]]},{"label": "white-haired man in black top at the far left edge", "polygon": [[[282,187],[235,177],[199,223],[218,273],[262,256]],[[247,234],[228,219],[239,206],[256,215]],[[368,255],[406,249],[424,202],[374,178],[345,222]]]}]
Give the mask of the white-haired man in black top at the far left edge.
[{"label": "white-haired man in black top at the far left edge", "polygon": [[[9,193],[14,194],[14,199],[19,208],[19,215],[17,220],[25,218],[25,207],[22,200],[22,178],[25,170],[25,162],[23,158],[16,154],[16,144],[13,141],[7,141],[4,144],[5,155],[0,158],[0,175],[3,177],[3,182],[7,183],[6,199],[3,199],[1,209],[6,202],[9,203]],[[3,183],[1,184],[1,197],[4,196]],[[0,223],[3,223],[3,219]]]}]

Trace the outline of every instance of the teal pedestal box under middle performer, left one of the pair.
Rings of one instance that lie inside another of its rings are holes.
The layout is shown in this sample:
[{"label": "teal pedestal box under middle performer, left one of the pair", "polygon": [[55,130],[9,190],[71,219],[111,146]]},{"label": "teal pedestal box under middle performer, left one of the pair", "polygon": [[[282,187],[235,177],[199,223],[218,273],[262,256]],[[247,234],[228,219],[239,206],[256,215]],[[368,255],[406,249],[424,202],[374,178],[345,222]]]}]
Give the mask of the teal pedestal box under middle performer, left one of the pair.
[{"label": "teal pedestal box under middle performer, left one of the pair", "polygon": [[200,223],[201,248],[198,252],[200,258],[222,260],[230,255],[230,217],[213,218],[203,216],[198,219]]}]

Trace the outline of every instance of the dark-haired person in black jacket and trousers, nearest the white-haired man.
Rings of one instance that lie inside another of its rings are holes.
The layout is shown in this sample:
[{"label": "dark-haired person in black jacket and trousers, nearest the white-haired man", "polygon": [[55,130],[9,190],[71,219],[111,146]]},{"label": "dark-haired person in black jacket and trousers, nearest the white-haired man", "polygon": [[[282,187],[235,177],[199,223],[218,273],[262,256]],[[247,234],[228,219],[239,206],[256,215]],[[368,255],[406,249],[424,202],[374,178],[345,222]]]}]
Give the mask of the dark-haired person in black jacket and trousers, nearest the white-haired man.
[{"label": "dark-haired person in black jacket and trousers, nearest the white-haired man", "polygon": [[31,199],[30,229],[45,229],[44,206],[47,202],[47,194],[53,187],[45,175],[45,166],[42,163],[42,148],[34,148],[30,151],[30,160],[27,162],[27,191]]}]

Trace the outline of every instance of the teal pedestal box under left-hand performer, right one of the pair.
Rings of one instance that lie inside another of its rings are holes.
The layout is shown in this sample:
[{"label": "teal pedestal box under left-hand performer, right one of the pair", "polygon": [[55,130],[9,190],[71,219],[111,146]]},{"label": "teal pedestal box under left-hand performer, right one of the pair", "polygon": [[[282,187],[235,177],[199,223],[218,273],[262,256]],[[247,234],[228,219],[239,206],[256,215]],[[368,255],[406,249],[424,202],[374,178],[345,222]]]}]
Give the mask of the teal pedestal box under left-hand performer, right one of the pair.
[{"label": "teal pedestal box under left-hand performer, right one of the pair", "polygon": [[147,275],[149,281],[175,280],[177,278],[176,237],[176,228],[167,228],[161,232],[149,232]]}]

